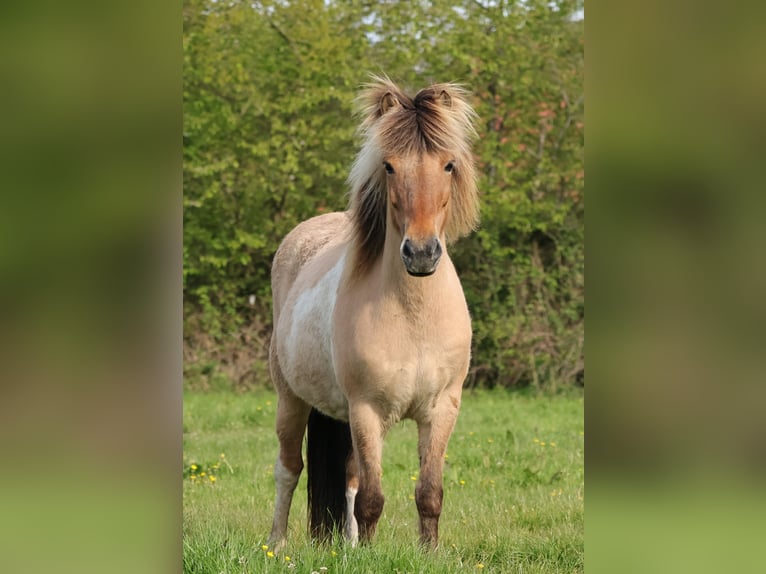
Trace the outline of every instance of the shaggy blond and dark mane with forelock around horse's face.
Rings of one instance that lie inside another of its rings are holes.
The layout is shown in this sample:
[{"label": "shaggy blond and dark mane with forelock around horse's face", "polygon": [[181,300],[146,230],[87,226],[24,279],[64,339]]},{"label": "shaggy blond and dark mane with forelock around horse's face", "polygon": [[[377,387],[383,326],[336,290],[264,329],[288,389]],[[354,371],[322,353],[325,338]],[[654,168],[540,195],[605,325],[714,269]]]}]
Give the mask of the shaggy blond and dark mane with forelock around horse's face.
[{"label": "shaggy blond and dark mane with forelock around horse's face", "polygon": [[357,265],[369,269],[386,236],[387,156],[448,152],[455,160],[447,241],[476,228],[479,200],[471,139],[476,113],[468,92],[456,84],[433,84],[414,97],[385,77],[372,78],[358,98],[362,148],[349,174],[349,211]]}]

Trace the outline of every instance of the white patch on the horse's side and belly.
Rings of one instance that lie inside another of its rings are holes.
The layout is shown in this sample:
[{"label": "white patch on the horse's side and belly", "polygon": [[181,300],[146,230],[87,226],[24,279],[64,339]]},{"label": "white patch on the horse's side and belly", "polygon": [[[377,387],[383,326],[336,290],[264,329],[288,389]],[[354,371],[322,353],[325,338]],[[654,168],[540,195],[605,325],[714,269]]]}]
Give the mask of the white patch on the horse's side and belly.
[{"label": "white patch on the horse's side and belly", "polygon": [[297,294],[292,311],[280,317],[277,345],[280,368],[292,391],[326,415],[348,420],[348,401],[338,385],[332,349],[332,315],[342,269],[341,258],[316,285]]}]

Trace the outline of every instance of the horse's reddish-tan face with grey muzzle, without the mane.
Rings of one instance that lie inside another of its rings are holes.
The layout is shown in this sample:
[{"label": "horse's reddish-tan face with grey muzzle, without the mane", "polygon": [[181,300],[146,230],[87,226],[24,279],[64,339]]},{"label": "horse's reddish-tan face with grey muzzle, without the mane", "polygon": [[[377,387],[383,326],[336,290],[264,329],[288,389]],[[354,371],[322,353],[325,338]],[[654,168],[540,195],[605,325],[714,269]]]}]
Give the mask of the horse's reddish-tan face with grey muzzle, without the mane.
[{"label": "horse's reddish-tan face with grey muzzle, without the mane", "polygon": [[431,275],[443,252],[455,159],[445,153],[423,153],[386,158],[383,167],[392,231],[401,237],[399,254],[407,273]]}]

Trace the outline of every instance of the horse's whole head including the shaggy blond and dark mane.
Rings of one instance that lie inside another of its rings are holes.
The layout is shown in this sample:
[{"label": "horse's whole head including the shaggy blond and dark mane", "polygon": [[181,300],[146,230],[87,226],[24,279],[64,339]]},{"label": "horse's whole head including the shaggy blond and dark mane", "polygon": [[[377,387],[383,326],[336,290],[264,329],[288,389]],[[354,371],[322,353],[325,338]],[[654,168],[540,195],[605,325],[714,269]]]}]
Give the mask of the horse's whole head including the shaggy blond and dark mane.
[{"label": "horse's whole head including the shaggy blond and dark mane", "polygon": [[434,84],[409,97],[375,79],[360,97],[365,142],[349,176],[357,264],[369,268],[395,237],[407,272],[431,275],[447,241],[478,221],[475,114],[460,86]]}]

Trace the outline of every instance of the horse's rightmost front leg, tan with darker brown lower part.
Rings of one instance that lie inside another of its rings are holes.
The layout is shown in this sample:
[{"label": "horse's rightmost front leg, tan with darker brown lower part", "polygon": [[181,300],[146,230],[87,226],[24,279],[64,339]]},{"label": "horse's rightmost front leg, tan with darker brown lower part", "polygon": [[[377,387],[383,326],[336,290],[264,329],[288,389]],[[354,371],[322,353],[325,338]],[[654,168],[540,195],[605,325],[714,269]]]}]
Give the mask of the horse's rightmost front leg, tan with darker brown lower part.
[{"label": "horse's rightmost front leg, tan with darker brown lower part", "polygon": [[420,477],[415,486],[415,504],[420,515],[420,542],[435,548],[439,542],[439,516],[444,496],[444,453],[460,409],[460,388],[445,394],[428,420],[418,421]]}]

